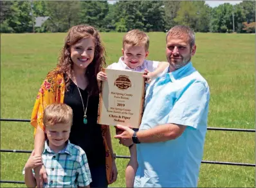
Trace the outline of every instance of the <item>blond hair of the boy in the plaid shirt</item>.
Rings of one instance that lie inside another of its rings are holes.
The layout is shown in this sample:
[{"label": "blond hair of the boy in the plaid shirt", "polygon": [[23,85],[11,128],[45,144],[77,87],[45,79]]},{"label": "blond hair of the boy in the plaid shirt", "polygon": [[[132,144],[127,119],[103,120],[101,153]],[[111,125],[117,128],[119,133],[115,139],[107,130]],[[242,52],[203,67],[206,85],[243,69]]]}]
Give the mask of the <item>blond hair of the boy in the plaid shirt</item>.
[{"label": "blond hair of the boy in the plaid shirt", "polygon": [[73,110],[63,103],[53,103],[44,109],[42,122],[44,126],[53,126],[57,123],[71,126],[73,122]]}]

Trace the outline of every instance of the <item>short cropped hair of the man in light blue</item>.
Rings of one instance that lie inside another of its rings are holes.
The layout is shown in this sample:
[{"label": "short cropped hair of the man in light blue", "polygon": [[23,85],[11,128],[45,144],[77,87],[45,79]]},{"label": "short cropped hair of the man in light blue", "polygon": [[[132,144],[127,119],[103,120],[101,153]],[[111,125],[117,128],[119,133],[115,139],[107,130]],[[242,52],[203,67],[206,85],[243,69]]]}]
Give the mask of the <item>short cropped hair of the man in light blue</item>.
[{"label": "short cropped hair of the man in light blue", "polygon": [[190,47],[194,46],[196,42],[195,33],[188,26],[174,26],[173,28],[170,28],[166,35],[166,41],[169,35],[176,37],[187,35]]}]

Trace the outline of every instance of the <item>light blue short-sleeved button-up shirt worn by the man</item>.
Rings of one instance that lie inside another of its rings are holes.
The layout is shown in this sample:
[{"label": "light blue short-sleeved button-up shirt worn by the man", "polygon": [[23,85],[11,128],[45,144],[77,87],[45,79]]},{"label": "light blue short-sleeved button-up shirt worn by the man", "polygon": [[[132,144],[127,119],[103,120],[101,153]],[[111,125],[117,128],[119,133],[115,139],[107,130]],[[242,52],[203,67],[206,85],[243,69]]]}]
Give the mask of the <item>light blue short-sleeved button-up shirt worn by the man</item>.
[{"label": "light blue short-sleeved button-up shirt worn by the man", "polygon": [[191,62],[172,73],[168,67],[151,82],[140,130],[166,123],[187,128],[174,140],[137,144],[134,187],[197,187],[209,99],[208,84]]}]

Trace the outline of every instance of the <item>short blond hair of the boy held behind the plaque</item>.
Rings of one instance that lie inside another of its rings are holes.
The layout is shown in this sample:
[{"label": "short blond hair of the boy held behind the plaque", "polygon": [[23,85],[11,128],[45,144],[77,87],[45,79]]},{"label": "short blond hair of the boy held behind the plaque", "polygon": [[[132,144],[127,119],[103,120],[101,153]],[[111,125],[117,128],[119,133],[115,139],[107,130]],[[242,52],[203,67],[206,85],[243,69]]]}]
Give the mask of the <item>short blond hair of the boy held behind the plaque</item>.
[{"label": "short blond hair of the boy held behind the plaque", "polygon": [[144,46],[145,51],[149,51],[149,36],[143,31],[131,30],[123,36],[123,49],[125,44]]}]

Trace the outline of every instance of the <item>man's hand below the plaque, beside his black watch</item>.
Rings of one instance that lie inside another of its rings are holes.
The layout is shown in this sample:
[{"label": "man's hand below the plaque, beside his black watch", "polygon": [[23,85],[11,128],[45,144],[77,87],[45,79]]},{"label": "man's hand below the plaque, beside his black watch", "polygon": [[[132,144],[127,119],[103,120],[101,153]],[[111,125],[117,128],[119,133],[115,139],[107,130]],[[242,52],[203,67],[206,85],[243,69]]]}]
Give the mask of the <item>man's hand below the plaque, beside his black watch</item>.
[{"label": "man's hand below the plaque, beside his black watch", "polygon": [[127,126],[122,126],[120,124],[116,125],[116,128],[118,128],[118,130],[122,133],[115,135],[114,138],[115,139],[120,139],[120,144],[123,144],[123,146],[131,146],[131,144],[133,144],[133,133],[134,130],[132,130],[131,128],[127,127]]}]

